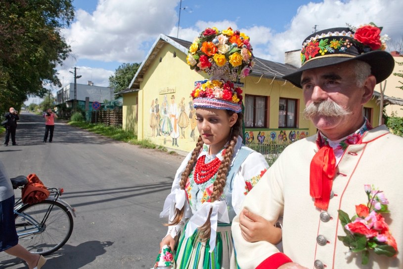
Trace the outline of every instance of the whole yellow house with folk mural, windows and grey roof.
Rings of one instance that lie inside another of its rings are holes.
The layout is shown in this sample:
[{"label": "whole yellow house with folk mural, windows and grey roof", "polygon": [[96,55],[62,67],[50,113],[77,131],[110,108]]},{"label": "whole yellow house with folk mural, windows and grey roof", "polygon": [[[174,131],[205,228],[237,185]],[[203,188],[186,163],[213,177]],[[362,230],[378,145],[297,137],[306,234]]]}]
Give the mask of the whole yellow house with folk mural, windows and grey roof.
[{"label": "whole yellow house with folk mural, windows and grey roof", "polygon": [[[190,70],[186,63],[190,44],[161,34],[129,88],[119,93],[123,129],[133,131],[138,139],[183,151],[195,147],[199,133],[190,93],[195,82],[207,76]],[[246,143],[281,144],[314,134],[316,128],[303,117],[302,90],[281,78],[296,67],[261,58],[255,61],[253,72],[238,82],[244,97]],[[379,120],[376,100],[364,109],[374,126]]]}]

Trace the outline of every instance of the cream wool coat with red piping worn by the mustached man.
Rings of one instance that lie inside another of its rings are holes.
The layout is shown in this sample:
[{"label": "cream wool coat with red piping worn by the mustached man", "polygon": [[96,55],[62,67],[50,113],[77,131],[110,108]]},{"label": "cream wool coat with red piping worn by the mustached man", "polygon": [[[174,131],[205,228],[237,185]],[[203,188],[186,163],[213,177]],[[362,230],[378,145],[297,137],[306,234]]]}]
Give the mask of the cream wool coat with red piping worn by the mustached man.
[{"label": "cream wool coat with red piping worn by the mustached man", "polygon": [[[273,223],[284,216],[283,250],[293,262],[315,268],[315,260],[326,269],[387,269],[403,268],[403,138],[389,133],[386,126],[374,128],[363,135],[362,144],[350,145],[338,166],[333,180],[334,197],[330,199],[327,222],[320,220],[321,210],[313,205],[310,196],[310,163],[317,151],[316,135],[288,146],[269,168],[259,183],[246,196],[243,206]],[[389,200],[390,214],[383,214],[398,245],[396,258],[377,255],[372,250],[369,263],[361,265],[361,256],[345,259],[348,247],[338,240],[346,235],[338,219],[337,210],[350,218],[355,206],[367,203],[364,184],[373,184],[384,191]],[[246,242],[239,229],[239,215],[232,223],[232,232],[241,269],[256,268],[269,256],[277,253],[268,242]],[[316,237],[325,236],[325,246]]]}]

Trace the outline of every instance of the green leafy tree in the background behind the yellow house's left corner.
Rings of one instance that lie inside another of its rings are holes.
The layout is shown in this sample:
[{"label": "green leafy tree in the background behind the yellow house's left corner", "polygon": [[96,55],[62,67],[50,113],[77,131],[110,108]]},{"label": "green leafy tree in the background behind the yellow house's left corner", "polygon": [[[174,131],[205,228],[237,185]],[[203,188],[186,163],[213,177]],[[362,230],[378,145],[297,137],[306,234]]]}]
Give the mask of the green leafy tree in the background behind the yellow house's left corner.
[{"label": "green leafy tree in the background behind the yellow house's left corner", "polygon": [[140,63],[123,63],[116,69],[115,75],[109,77],[109,87],[115,88],[115,93],[127,89],[134,78]]}]

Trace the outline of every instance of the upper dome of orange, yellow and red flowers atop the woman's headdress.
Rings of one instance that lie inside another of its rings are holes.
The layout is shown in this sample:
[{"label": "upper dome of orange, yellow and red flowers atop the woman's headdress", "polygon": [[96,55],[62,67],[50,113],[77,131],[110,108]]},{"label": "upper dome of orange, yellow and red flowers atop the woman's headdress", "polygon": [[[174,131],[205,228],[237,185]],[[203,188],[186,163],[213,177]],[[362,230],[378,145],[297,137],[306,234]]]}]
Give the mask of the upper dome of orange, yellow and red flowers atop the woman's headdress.
[{"label": "upper dome of orange, yellow and red flowers atop the woman's headdress", "polygon": [[249,37],[231,28],[206,28],[190,45],[187,63],[196,71],[236,81],[249,75],[253,66]]}]

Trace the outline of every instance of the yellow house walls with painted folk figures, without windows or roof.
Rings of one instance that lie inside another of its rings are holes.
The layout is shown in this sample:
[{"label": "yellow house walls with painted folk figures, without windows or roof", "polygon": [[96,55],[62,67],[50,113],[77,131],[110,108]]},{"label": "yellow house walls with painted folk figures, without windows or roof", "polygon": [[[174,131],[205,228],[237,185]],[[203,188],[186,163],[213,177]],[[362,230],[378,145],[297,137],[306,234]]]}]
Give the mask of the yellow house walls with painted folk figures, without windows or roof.
[{"label": "yellow house walls with painted folk figures, without windows or roof", "polygon": [[[154,61],[147,67],[143,80],[140,82],[140,90],[136,93],[124,94],[123,128],[136,132],[140,140],[149,139],[157,145],[182,151],[193,150],[199,133],[196,121],[189,118],[192,107],[190,93],[194,89],[195,81],[205,78],[207,76],[202,73],[190,70],[186,64],[185,54],[170,44],[164,45],[156,54]],[[241,83],[244,83],[243,95],[269,97],[268,127],[247,128],[245,130],[247,144],[267,144],[271,141],[285,143],[316,133],[312,122],[303,118],[305,104],[301,89],[289,82],[257,76],[241,79]],[[296,128],[278,128],[279,98],[298,100]],[[182,99],[183,103],[181,103]],[[174,103],[172,103],[173,100]],[[158,102],[158,109],[156,102]],[[365,107],[372,108],[371,124],[377,126],[379,107],[376,101],[371,100]],[[134,111],[137,108],[136,117]],[[169,131],[167,126],[172,126],[172,132],[164,134],[167,129]]]}]

